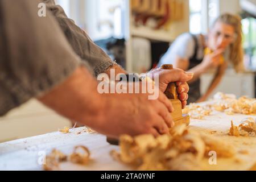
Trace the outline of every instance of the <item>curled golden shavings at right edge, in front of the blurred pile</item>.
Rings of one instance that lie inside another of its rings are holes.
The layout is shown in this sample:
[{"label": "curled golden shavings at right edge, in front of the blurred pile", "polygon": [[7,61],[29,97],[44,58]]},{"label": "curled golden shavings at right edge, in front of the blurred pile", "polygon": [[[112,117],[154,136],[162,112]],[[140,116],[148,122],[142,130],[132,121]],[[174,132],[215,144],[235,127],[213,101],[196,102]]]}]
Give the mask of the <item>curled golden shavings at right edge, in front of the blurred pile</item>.
[{"label": "curled golden shavings at right edge, in front of the blurred pile", "polygon": [[229,135],[236,137],[255,137],[256,133],[256,123],[255,119],[247,118],[244,119],[239,126],[235,126],[233,121],[231,121],[231,127],[229,129]]}]

